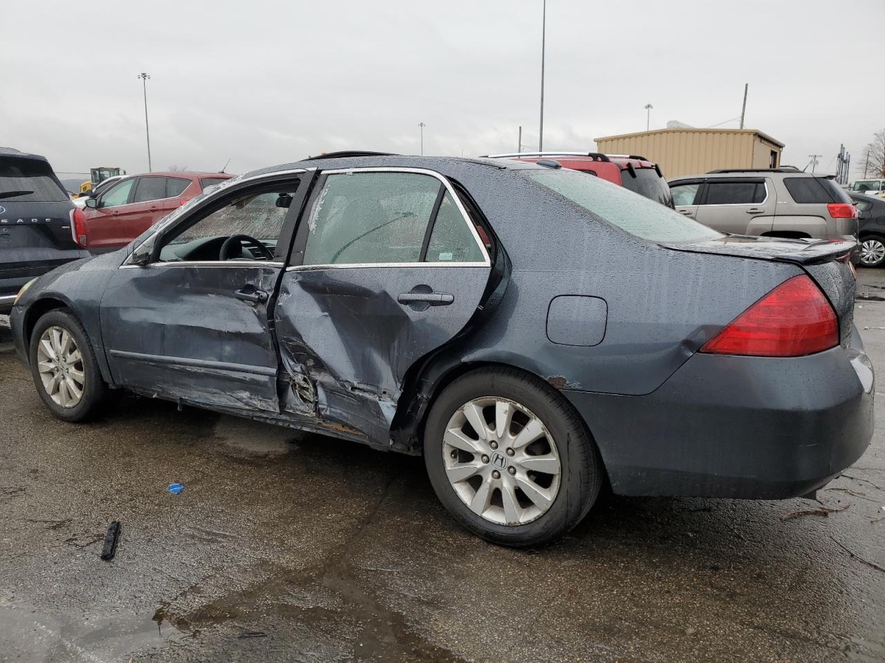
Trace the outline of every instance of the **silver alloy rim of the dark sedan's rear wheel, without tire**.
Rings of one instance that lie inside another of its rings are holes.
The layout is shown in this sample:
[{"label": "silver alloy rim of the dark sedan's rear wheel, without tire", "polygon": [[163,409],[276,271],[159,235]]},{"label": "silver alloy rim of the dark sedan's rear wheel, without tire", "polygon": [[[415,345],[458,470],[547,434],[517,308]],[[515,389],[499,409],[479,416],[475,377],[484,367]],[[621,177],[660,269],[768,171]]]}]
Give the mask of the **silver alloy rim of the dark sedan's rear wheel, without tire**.
[{"label": "silver alloy rim of the dark sedan's rear wheel, without tire", "polygon": [[486,396],[451,415],[443,437],[446,476],[474,514],[518,525],[542,516],[559,491],[556,442],[513,400]]}]

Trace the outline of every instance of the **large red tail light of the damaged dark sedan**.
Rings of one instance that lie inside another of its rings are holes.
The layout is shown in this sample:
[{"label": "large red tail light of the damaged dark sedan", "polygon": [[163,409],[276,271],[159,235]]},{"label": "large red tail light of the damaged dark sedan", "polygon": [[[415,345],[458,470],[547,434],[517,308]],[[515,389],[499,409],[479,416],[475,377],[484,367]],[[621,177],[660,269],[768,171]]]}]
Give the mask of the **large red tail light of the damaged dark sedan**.
[{"label": "large red tail light of the damaged dark sedan", "polygon": [[728,323],[701,352],[799,357],[839,345],[839,321],[811,278],[797,276]]}]

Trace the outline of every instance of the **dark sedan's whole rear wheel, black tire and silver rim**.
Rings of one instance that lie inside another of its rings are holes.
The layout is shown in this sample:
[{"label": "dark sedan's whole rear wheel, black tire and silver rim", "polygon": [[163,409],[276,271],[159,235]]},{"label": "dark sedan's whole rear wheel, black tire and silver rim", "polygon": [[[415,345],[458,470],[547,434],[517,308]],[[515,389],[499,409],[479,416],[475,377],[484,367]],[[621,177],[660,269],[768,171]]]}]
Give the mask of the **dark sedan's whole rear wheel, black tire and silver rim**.
[{"label": "dark sedan's whole rear wheel, black tire and silver rim", "polygon": [[581,417],[550,385],[512,369],[474,370],[443,390],[427,415],[424,461],[458,522],[515,547],[571,530],[604,483]]}]

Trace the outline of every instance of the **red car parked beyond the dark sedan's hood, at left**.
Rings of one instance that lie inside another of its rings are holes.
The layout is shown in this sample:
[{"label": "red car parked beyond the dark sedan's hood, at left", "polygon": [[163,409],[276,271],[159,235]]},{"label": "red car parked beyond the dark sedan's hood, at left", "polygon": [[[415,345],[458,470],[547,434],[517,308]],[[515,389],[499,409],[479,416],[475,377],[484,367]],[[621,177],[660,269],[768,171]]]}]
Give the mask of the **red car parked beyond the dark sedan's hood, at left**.
[{"label": "red car parked beyond the dark sedan's hood, at left", "polygon": [[74,212],[74,239],[93,254],[125,247],[206,187],[232,177],[225,172],[175,171],[120,179]]}]

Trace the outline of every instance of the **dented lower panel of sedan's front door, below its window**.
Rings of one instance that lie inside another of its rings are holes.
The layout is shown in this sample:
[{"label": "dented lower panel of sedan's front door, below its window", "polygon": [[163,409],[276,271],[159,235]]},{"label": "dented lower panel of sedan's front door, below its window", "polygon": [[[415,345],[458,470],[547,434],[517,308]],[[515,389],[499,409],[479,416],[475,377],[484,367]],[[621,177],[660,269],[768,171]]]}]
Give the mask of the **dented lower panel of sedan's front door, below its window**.
[{"label": "dented lower panel of sedan's front door, below its window", "polygon": [[[121,268],[102,300],[114,382],[214,408],[279,412],[267,302],[281,266]],[[242,299],[245,295],[256,301]]]}]

